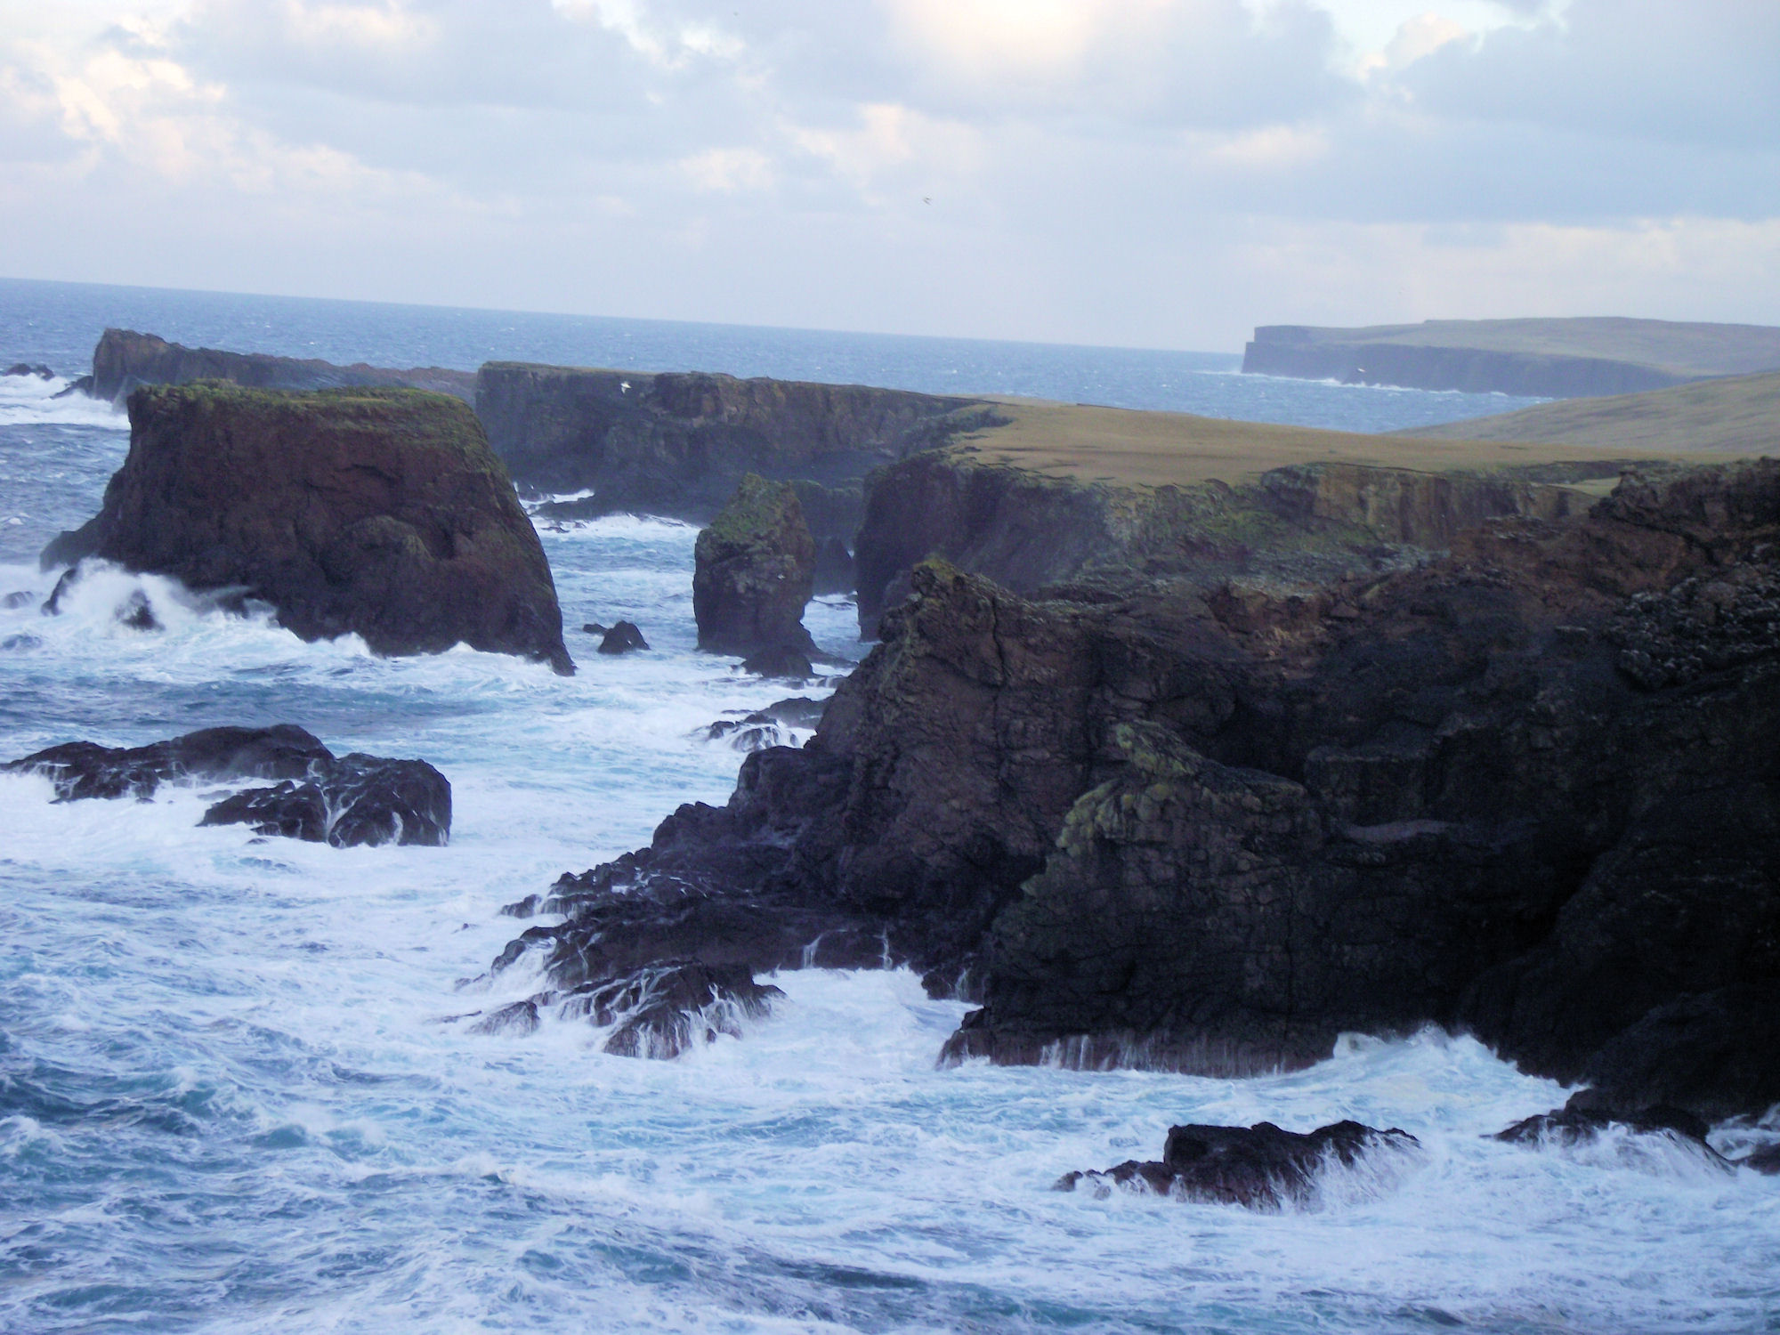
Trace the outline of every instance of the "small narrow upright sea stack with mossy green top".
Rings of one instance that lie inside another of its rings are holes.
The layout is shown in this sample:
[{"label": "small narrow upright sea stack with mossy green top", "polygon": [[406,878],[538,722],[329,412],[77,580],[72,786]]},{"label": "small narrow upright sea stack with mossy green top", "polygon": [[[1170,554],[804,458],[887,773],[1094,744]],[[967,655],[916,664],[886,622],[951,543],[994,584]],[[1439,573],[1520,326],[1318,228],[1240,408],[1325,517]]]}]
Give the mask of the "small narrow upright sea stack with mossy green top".
[{"label": "small narrow upright sea stack with mossy green top", "polygon": [[[714,653],[813,653],[803,609],[815,584],[815,543],[797,491],[748,473],[692,550],[698,646]],[[805,669],[805,675],[808,669]]]}]

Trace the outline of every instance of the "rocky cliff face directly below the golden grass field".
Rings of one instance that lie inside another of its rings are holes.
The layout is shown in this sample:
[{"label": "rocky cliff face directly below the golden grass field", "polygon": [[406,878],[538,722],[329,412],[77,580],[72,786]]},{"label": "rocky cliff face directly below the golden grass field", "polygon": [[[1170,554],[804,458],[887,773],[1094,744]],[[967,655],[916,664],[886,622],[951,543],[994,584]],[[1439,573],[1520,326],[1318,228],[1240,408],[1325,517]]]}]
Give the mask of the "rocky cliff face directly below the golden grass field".
[{"label": "rocky cliff face directly below the golden grass field", "polygon": [[1445,550],[1486,518],[1561,518],[1575,504],[1565,488],[1508,473],[1326,463],[1276,468],[1241,488],[1129,488],[931,452],[869,479],[854,555],[860,627],[876,628],[927,555],[1022,595],[1132,566],[1202,582],[1328,578]]}]

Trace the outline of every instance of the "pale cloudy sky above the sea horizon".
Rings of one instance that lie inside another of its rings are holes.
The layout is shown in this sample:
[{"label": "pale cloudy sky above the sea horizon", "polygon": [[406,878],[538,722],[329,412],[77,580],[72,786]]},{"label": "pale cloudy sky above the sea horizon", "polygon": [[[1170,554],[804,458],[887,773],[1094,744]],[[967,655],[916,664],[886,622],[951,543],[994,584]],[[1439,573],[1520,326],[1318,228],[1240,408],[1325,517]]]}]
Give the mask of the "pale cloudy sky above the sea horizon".
[{"label": "pale cloudy sky above the sea horizon", "polygon": [[0,274],[1234,351],[1780,324],[1780,0],[0,0]]}]

